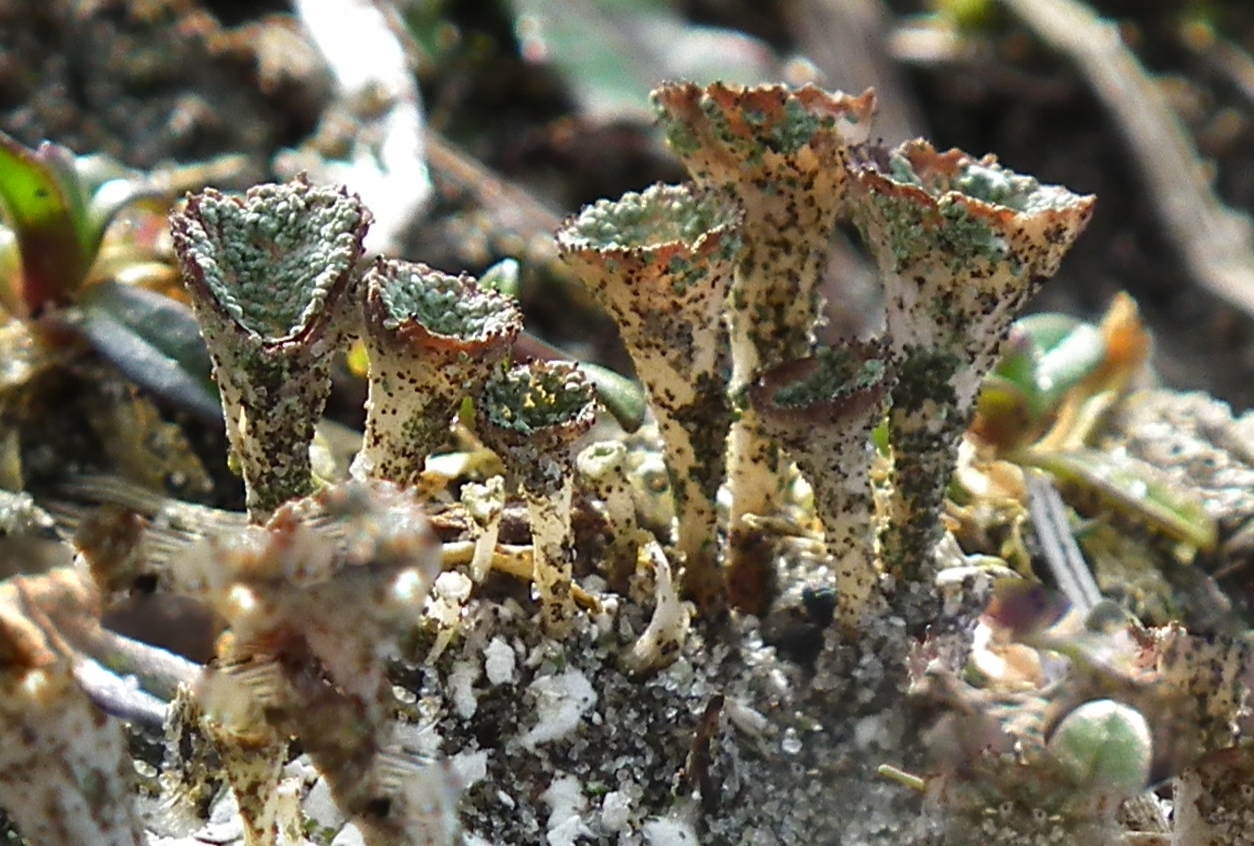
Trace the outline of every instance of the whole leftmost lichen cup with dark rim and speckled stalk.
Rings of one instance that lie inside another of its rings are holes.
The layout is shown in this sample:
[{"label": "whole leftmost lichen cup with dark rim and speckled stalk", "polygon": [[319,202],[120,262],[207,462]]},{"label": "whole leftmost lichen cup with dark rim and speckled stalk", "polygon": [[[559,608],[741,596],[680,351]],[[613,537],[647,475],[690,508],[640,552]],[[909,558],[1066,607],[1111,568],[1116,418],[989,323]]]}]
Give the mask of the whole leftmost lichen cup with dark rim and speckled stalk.
[{"label": "whole leftmost lichen cup with dark rim and speckled stalk", "polygon": [[355,196],[302,177],[245,197],[206,189],[171,216],[256,523],[312,489],[308,446],[331,356],[359,318],[369,224]]}]

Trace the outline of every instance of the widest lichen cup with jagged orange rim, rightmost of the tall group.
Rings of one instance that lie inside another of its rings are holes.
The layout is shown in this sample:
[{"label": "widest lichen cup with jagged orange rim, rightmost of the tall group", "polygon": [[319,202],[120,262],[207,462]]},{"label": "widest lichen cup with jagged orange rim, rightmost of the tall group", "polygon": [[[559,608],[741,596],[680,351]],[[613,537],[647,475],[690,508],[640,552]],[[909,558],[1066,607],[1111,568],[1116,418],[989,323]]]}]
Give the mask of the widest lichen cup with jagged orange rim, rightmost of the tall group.
[{"label": "widest lichen cup with jagged orange rim, rightmost of the tall group", "polygon": [[958,442],[1011,323],[1083,231],[1093,198],[927,142],[859,150],[851,197],[898,358],[884,560],[912,577],[940,535]]}]

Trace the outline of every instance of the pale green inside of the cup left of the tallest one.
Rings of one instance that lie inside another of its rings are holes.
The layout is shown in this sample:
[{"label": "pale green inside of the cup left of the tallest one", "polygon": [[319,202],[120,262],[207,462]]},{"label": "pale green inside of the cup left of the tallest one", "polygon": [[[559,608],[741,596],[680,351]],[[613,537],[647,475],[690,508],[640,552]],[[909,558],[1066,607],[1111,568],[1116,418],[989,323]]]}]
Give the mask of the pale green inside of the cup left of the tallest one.
[{"label": "pale green inside of the cup left of the tallest one", "polygon": [[653,185],[589,206],[562,238],[572,247],[594,249],[692,244],[735,222],[735,208],[716,197],[693,194],[678,185]]}]

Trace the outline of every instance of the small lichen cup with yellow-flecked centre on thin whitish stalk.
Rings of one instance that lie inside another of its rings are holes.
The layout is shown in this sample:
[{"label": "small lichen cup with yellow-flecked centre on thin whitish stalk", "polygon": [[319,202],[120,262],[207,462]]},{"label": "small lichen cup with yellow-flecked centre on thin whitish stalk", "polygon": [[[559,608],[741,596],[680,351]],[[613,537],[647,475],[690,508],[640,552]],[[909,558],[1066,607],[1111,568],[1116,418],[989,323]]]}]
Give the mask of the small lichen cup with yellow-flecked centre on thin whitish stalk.
[{"label": "small lichen cup with yellow-flecked centre on thin whitish stalk", "polygon": [[568,363],[534,361],[500,370],[475,401],[479,436],[505,462],[527,499],[532,579],[540,620],[556,635],[574,615],[571,499],[579,436],[596,420],[596,391]]}]

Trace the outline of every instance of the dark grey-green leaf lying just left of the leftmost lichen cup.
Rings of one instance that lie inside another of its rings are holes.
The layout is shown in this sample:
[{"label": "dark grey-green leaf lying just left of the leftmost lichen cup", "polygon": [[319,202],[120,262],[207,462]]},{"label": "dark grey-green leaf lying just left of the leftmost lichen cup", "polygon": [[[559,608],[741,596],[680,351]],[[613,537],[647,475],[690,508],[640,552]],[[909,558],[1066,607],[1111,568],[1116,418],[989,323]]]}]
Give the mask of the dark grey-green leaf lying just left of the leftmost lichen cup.
[{"label": "dark grey-green leaf lying just left of the leftmost lichen cup", "polygon": [[189,308],[120,282],[89,286],[79,306],[83,336],[127,379],[206,422],[222,421],[209,353]]}]

